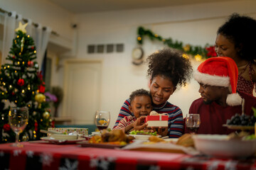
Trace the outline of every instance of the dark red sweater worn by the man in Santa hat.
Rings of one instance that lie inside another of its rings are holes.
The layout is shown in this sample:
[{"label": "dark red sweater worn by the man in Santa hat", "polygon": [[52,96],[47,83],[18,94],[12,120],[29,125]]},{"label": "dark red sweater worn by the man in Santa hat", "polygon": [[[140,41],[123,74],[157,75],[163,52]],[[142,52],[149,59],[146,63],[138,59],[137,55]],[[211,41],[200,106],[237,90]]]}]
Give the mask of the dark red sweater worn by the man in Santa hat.
[{"label": "dark red sweater worn by the man in Santa hat", "polygon": [[[256,108],[256,98],[242,92],[239,92],[239,94],[242,98],[245,98],[245,114],[253,115],[252,107]],[[230,132],[234,132],[235,130],[223,127],[223,124],[226,124],[226,121],[235,115],[235,113],[239,113],[241,115],[242,106],[223,107],[215,102],[206,105],[203,103],[202,98],[198,98],[191,104],[189,113],[200,114],[201,125],[196,132],[197,134],[228,135]],[[185,129],[185,132],[188,132],[188,130]]]}]

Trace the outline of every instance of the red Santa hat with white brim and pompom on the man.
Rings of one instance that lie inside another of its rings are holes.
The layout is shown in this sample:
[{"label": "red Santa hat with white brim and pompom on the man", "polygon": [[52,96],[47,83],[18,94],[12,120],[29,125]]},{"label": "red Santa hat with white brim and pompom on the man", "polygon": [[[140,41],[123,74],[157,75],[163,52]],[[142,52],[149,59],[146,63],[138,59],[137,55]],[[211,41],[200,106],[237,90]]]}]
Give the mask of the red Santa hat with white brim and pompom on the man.
[{"label": "red Santa hat with white brim and pompom on the man", "polygon": [[231,86],[232,94],[228,94],[229,106],[238,106],[242,98],[236,93],[238,82],[238,67],[230,57],[211,57],[202,62],[193,75],[201,84],[210,86]]}]

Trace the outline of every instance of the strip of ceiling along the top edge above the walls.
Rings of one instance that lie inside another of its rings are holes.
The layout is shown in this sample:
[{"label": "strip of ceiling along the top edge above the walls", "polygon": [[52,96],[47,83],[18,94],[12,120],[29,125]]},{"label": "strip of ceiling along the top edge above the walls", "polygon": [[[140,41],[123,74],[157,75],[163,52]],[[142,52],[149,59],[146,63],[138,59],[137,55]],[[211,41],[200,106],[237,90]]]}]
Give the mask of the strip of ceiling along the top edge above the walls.
[{"label": "strip of ceiling along the top edge above the walls", "polygon": [[94,13],[242,0],[48,0],[71,13]]}]

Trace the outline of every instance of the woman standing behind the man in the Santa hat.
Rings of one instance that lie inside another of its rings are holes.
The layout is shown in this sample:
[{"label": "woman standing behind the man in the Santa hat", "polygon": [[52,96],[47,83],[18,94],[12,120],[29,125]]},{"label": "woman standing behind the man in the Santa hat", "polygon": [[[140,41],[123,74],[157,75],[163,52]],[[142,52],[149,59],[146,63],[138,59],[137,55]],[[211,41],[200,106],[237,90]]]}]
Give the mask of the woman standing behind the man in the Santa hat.
[{"label": "woman standing behind the man in the Santa hat", "polygon": [[256,83],[256,20],[233,13],[217,31],[218,57],[230,57],[238,66],[238,91],[253,95]]}]

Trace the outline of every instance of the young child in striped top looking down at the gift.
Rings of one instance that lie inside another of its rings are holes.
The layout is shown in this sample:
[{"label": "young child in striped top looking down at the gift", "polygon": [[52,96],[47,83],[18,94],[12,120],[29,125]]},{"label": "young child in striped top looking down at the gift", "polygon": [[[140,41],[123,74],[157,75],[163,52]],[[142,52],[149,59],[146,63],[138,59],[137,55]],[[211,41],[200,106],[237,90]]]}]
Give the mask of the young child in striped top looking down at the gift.
[{"label": "young child in striped top looking down at the gift", "polygon": [[122,129],[125,133],[128,133],[130,130],[143,130],[146,128],[144,118],[152,111],[152,101],[149,91],[144,89],[133,91],[129,96],[129,101],[131,103],[129,111],[133,113],[133,116],[124,116],[114,130]]}]

